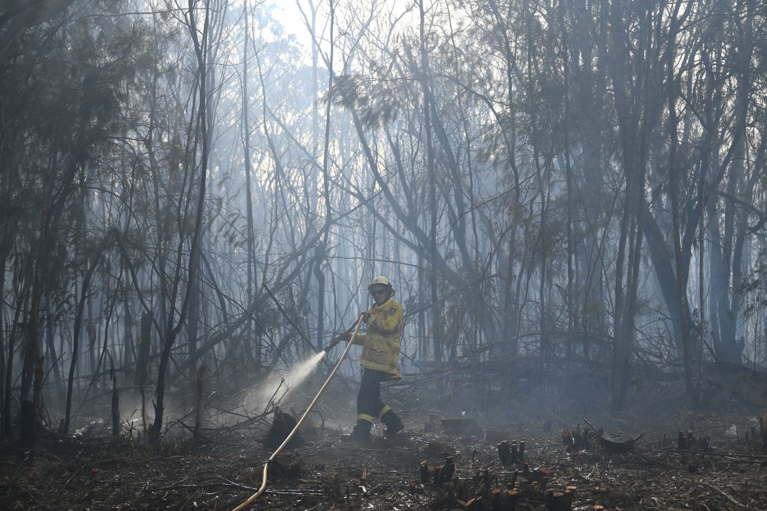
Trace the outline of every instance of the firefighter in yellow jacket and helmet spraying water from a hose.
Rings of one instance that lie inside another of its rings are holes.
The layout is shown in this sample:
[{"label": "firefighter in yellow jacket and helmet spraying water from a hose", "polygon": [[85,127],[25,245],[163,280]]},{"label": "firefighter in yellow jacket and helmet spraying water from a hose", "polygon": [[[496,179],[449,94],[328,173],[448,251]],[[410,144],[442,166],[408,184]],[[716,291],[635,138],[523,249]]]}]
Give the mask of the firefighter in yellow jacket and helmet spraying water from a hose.
[{"label": "firefighter in yellow jacket and helmet spraying water from a hose", "polygon": [[[394,288],[387,277],[375,277],[368,292],[373,296],[374,306],[360,313],[367,325],[367,333],[354,336],[354,344],[363,346],[362,381],[357,394],[357,425],[351,434],[344,435],[344,440],[364,441],[370,439],[373,419],[379,418],[386,424],[387,435],[397,434],[404,425],[389,405],[384,405],[380,398],[380,384],[389,380],[399,380],[400,376],[400,335],[402,334],[402,306],[393,299]],[[340,341],[351,339],[351,332],[344,332],[325,347],[330,349]]]}]

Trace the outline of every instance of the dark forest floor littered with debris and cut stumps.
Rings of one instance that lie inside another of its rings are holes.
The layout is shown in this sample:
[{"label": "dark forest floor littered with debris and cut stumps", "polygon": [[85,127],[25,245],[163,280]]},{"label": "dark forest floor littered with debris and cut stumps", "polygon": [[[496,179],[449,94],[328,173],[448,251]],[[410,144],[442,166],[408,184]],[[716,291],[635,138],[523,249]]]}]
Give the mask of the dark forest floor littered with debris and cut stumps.
[{"label": "dark forest floor littered with debris and cut stumps", "polygon": [[[486,405],[484,414],[462,415],[453,401],[453,417],[463,418],[456,425],[441,421],[449,414],[444,402],[388,398],[405,431],[384,439],[377,425],[369,443],[342,442],[339,427],[324,424],[354,411],[339,405],[348,405],[348,395],[329,400],[322,425],[305,427],[304,444],[270,464],[267,490],[252,509],[513,509],[514,499],[525,510],[767,509],[767,450],[752,437],[763,409],[690,412],[663,391],[620,418],[594,403],[551,411],[541,405],[546,398],[527,411]],[[102,430],[48,437],[22,458],[6,442],[0,509],[233,509],[261,483],[272,449],[260,439],[271,416],[207,428],[200,441],[176,427],[159,447]],[[604,428],[605,439],[643,436],[624,453],[599,441],[568,449],[563,430],[584,431],[587,423]],[[696,441],[680,450],[679,431],[692,431]],[[502,440],[525,442],[524,463],[501,463]],[[433,469],[448,456],[453,478],[443,483]],[[422,476],[423,460],[432,470]],[[571,493],[556,495],[568,486]]]}]

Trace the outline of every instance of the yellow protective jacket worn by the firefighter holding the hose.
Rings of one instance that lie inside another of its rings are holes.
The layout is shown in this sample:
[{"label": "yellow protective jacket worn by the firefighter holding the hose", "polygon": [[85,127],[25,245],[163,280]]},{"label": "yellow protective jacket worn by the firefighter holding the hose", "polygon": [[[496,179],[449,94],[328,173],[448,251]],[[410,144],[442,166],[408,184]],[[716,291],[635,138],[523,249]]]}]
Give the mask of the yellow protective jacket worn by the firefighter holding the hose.
[{"label": "yellow protective jacket worn by the firefighter holding the hose", "polygon": [[388,372],[400,379],[400,336],[402,335],[402,306],[393,298],[373,306],[367,319],[367,333],[357,333],[354,344],[364,346],[360,365],[367,369]]}]

